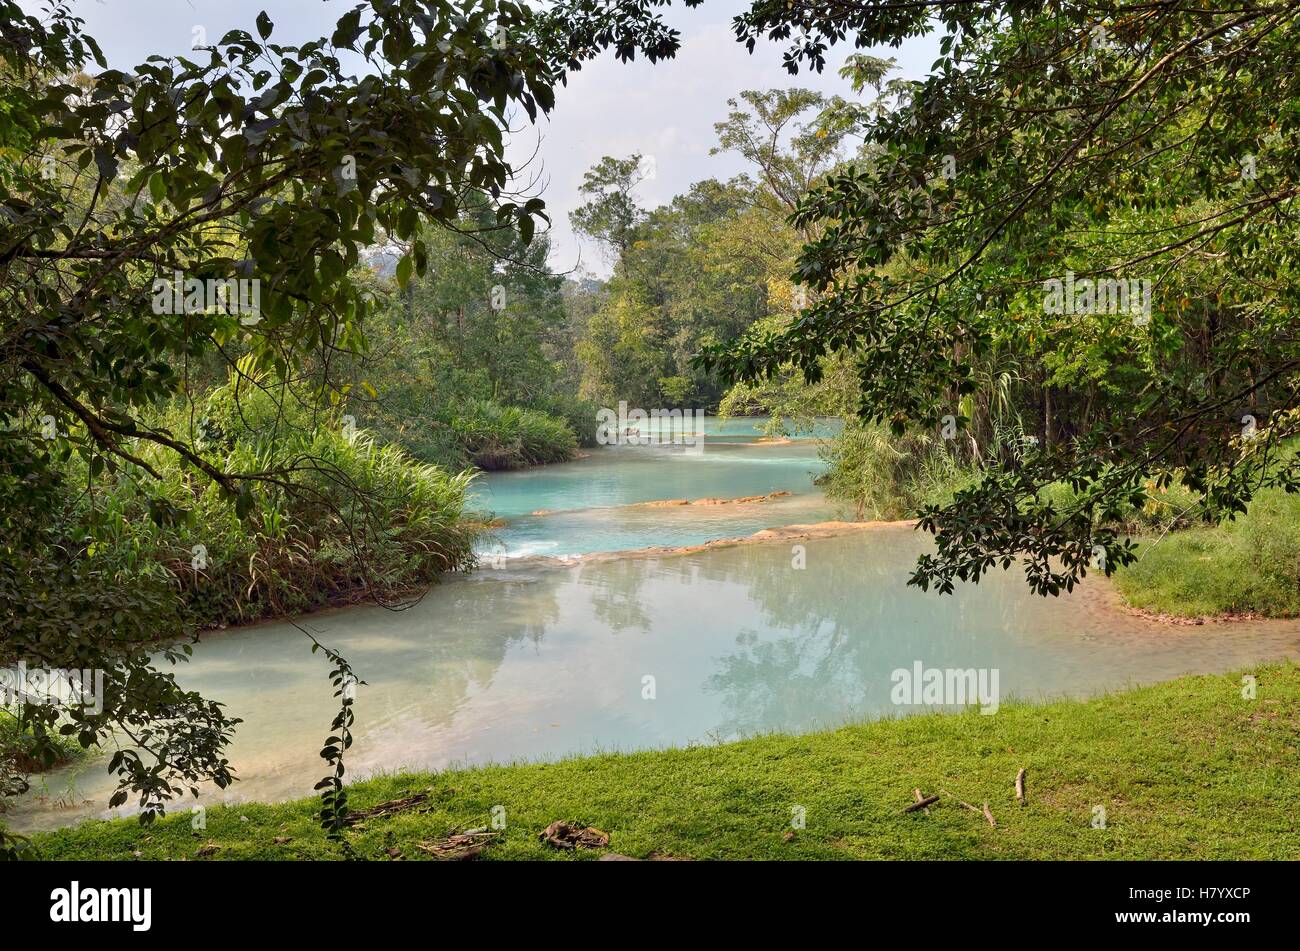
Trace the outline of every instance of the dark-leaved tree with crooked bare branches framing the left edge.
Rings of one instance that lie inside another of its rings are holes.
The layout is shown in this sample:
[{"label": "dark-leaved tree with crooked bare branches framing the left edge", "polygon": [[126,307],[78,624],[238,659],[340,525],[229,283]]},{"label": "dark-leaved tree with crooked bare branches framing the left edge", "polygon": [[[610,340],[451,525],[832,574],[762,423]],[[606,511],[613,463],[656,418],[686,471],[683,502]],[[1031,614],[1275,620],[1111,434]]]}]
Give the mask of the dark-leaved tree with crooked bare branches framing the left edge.
[{"label": "dark-leaved tree with crooked bare branches framing the left edge", "polygon": [[[370,0],[300,45],[273,42],[261,13],[256,35],[125,71],[82,26],[62,0],[44,18],[0,0],[0,661],[109,672],[101,709],[72,711],[73,730],[87,746],[131,738],[113,802],[134,790],[152,817],[202,780],[230,781],[233,721],[150,661],[148,644],[178,633],[174,591],[104,573],[87,526],[58,517],[84,488],[65,461],[148,495],[151,444],[240,514],[257,486],[302,488],[294,470],[312,460],[230,469],[153,411],[209,359],[250,379],[316,373],[329,391],[333,357],[365,346],[361,249],[378,234],[410,242],[406,283],[428,265],[421,225],[454,226],[482,200],[488,231],[526,244],[543,210],[511,195],[511,118],[549,110],[555,83],[606,45],[654,55],[663,38],[636,16],[560,34],[508,0]],[[21,716],[40,755],[58,713],[27,703]]]}]

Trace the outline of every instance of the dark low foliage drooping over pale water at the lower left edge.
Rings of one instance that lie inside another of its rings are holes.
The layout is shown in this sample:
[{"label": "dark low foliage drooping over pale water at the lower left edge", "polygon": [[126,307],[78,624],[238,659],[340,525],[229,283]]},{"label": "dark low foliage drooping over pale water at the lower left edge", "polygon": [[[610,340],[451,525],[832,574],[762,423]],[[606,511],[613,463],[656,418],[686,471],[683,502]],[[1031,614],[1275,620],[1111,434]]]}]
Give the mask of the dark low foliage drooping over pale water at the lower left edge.
[{"label": "dark low foliage drooping over pale water at the lower left edge", "polygon": [[[105,679],[98,709],[32,703],[17,709],[34,741],[29,757],[57,756],[66,737],[90,748],[127,725],[135,746],[122,746],[109,763],[121,783],[112,803],[125,803],[134,791],[143,821],[151,821],[200,780],[218,787],[231,781],[221,748],[238,721],[155,666],[155,651],[173,664],[188,653],[183,639],[191,626],[174,577],[135,548],[96,557],[96,538],[121,530],[117,514],[92,504],[88,468],[75,477],[78,486],[68,472],[75,469],[73,460],[62,456],[64,470],[55,473],[49,459],[32,459],[31,446],[0,438],[0,492],[29,503],[0,512],[0,666],[25,660],[100,670]],[[173,513],[147,503],[142,518],[161,525]],[[178,643],[159,651],[160,637]],[[8,772],[14,770],[10,764]]]}]

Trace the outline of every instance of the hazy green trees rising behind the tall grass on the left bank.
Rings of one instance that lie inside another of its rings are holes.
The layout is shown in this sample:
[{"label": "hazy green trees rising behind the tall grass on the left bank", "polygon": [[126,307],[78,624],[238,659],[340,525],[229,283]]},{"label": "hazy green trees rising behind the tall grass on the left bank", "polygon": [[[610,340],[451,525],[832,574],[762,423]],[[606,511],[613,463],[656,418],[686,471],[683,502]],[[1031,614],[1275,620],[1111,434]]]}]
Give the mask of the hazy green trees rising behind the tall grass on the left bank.
[{"label": "hazy green trees rising behind the tall grass on the left bank", "polygon": [[[465,230],[473,223],[467,218]],[[404,288],[365,275],[380,300],[368,323],[372,347],[348,364],[348,382],[339,387],[359,424],[448,469],[474,465],[476,453],[494,468],[563,457],[571,439],[543,424],[543,414],[560,416],[575,433],[589,430],[594,439],[594,408],[584,414],[569,395],[576,381],[564,368],[572,339],[563,281],[546,269],[546,240],[523,247],[499,235],[430,234],[428,247],[429,269]],[[498,448],[507,457],[491,460],[484,434],[468,421],[458,424],[476,403],[528,409],[510,425],[519,429],[526,421],[529,448],[516,438],[523,434],[502,430]]]}]

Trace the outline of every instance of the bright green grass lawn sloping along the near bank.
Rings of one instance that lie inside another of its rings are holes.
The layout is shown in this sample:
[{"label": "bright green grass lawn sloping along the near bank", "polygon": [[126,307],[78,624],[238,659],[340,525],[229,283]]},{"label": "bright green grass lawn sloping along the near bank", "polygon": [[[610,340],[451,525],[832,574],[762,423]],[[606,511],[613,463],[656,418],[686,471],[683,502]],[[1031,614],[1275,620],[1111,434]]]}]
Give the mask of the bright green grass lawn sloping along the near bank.
[{"label": "bright green grass lawn sloping along the near bank", "polygon": [[[599,855],[542,844],[538,833],[558,818],[597,826],[608,851],[637,857],[1300,859],[1300,666],[1247,673],[1258,683],[1252,700],[1242,673],[1188,677],[1086,703],[1004,704],[993,716],[391,776],[356,785],[352,808],[428,791],[429,809],[369,818],[348,841],[364,859],[422,859],[417,843],[486,826],[503,805],[507,828],[485,859]],[[1024,807],[1013,790],[1020,767]],[[914,787],[952,795],[930,815],[905,815]],[[987,802],[997,828],[956,798]],[[806,828],[786,841],[794,807]],[[1104,829],[1093,828],[1096,807]],[[187,811],[148,828],[87,822],[32,844],[47,859],[341,857],[316,808],[213,808],[203,831]]]}]

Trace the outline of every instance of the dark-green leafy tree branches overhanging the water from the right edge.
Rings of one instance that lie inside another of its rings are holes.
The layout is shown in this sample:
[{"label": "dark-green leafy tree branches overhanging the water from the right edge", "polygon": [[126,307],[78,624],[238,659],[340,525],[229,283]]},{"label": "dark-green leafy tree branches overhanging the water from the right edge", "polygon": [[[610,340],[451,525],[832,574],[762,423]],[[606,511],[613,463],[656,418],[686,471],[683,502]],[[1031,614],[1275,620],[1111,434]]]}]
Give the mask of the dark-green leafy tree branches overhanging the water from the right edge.
[{"label": "dark-green leafy tree branches overhanging the water from the right edge", "polygon": [[[1108,572],[1134,557],[1098,525],[1175,474],[1214,517],[1261,488],[1300,488],[1279,452],[1300,431],[1294,13],[753,4],[740,40],[807,36],[789,47],[792,71],[823,68],[837,43],[931,32],[940,57],[909,83],[849,64],[874,99],[826,122],[857,126],[863,147],[789,218],[812,303],[699,365],[750,385],[793,366],[816,383],[844,353],[866,421],[902,435],[956,417],[984,469],[923,513],[937,542],[911,578],[923,589],[1022,564],[1035,591],[1070,590],[1097,546]],[[1075,277],[1082,307],[1053,305],[1050,282]],[[1097,307],[1096,281],[1145,281],[1145,300]],[[998,448],[998,401],[1036,444]],[[1040,499],[1057,482],[1066,509]]]}]

